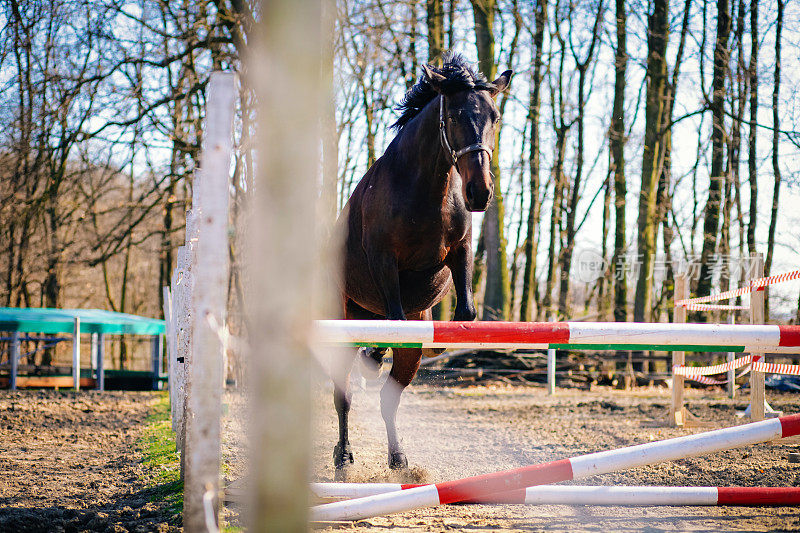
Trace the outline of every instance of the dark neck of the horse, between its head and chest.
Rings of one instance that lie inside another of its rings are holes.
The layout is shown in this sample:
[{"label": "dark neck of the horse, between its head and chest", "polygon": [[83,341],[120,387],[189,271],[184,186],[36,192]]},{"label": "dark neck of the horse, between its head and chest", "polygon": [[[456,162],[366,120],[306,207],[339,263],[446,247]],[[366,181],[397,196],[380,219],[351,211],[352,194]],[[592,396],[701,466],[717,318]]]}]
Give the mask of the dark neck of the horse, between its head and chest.
[{"label": "dark neck of the horse, between its head and chest", "polygon": [[434,99],[401,133],[398,143],[405,172],[413,176],[417,195],[441,202],[449,193],[452,165],[439,140],[439,107]]}]

